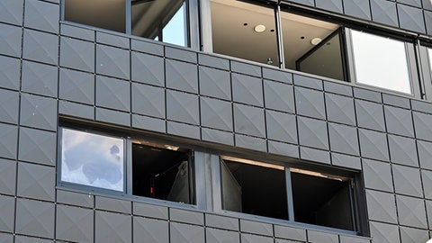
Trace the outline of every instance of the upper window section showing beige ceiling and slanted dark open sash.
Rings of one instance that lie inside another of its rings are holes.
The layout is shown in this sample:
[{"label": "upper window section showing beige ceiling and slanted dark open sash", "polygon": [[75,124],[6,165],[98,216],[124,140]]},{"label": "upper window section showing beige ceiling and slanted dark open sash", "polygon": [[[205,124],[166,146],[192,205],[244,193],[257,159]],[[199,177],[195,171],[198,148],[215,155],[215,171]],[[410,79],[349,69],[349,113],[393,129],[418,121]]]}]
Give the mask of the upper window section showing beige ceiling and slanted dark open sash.
[{"label": "upper window section showing beige ceiling and slanted dark open sash", "polygon": [[281,22],[286,68],[344,80],[338,35],[330,38],[338,24],[285,11]]}]

